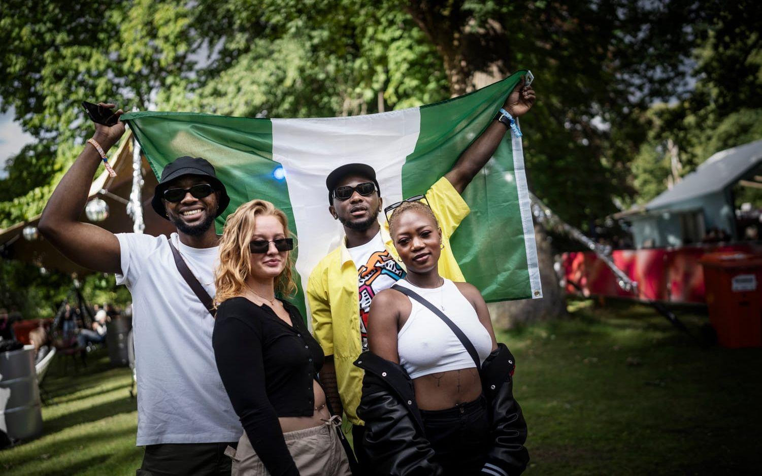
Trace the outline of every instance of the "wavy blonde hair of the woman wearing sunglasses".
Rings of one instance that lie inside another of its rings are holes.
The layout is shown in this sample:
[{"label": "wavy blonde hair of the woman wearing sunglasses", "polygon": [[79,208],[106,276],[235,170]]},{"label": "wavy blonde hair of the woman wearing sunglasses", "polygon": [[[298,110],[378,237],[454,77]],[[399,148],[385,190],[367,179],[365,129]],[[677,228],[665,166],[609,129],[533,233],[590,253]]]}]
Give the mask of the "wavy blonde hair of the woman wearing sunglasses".
[{"label": "wavy blonde hair of the woman wearing sunglasses", "polygon": [[[223,238],[219,240],[219,266],[214,273],[216,303],[240,296],[245,289],[251,260],[248,244],[255,232],[257,216],[268,215],[274,216],[283,225],[283,233],[287,238],[291,236],[286,214],[265,200],[244,203],[226,219]],[[286,267],[275,278],[275,292],[280,296],[289,296],[296,291],[292,268],[293,257],[291,252],[287,251]]]}]

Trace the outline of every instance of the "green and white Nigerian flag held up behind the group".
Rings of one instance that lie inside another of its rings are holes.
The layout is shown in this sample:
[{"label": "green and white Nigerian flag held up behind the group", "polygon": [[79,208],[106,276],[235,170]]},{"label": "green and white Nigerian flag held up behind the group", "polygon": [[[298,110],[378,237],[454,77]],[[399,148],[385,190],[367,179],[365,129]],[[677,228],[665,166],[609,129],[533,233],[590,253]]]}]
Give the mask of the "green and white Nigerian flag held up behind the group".
[{"label": "green and white Nigerian flag held up behind the group", "polygon": [[[157,177],[174,158],[203,157],[230,196],[217,220],[253,199],[286,212],[298,239],[299,295],[343,236],[328,213],[325,177],[339,165],[376,169],[385,204],[426,192],[491,123],[525,72],[437,104],[357,117],[259,119],[137,112],[122,119]],[[521,139],[507,134],[463,192],[471,212],[450,238],[466,280],[489,301],[542,297]],[[383,213],[380,219],[385,219]]]}]

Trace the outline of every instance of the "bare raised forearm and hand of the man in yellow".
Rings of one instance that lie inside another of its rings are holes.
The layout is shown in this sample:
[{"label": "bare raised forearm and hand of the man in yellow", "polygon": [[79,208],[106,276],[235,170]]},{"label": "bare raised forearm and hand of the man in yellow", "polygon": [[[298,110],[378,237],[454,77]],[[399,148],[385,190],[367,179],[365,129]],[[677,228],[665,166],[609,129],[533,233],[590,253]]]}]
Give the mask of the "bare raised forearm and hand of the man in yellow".
[{"label": "bare raised forearm and hand of the man in yellow", "polygon": [[[504,110],[511,113],[513,117],[523,116],[534,104],[534,90],[531,86],[524,88],[523,83],[524,78],[521,78],[521,82],[511,91],[503,104]],[[473,177],[482,170],[482,167],[495,153],[500,141],[505,136],[506,130],[503,123],[493,120],[484,133],[460,155],[453,168],[444,175],[458,193],[463,193],[463,190],[466,190],[466,186],[471,183]]]}]

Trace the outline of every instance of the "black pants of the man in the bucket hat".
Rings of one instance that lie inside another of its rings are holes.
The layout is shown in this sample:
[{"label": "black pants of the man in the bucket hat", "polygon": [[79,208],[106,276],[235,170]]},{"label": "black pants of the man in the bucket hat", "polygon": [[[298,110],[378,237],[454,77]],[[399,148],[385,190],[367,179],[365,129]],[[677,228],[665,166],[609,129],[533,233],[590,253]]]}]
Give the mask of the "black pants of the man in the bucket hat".
[{"label": "black pants of the man in the bucket hat", "polygon": [[230,476],[232,459],[225,455],[228,446],[235,448],[238,442],[148,445],[137,476]]}]

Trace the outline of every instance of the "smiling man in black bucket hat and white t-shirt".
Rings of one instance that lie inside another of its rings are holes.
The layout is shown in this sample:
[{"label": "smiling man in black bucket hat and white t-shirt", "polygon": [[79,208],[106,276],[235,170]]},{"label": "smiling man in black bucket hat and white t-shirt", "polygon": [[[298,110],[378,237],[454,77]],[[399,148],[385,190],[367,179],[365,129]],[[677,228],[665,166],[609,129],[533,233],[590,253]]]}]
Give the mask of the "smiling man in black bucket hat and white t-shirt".
[{"label": "smiling man in black bucket hat and white t-shirt", "polygon": [[121,121],[95,124],[94,136],[50,197],[40,233],[75,263],[115,273],[117,284],[132,293],[137,445],[146,447],[137,474],[230,474],[224,452],[236,446],[242,426],[214,360],[213,310],[190,284],[203,287],[207,299],[214,296],[219,237],[213,222],[230,199],[206,159],[181,157],[164,168],[151,200],[176,228],[169,238],[114,235],[80,222],[101,156],[124,130]]}]

